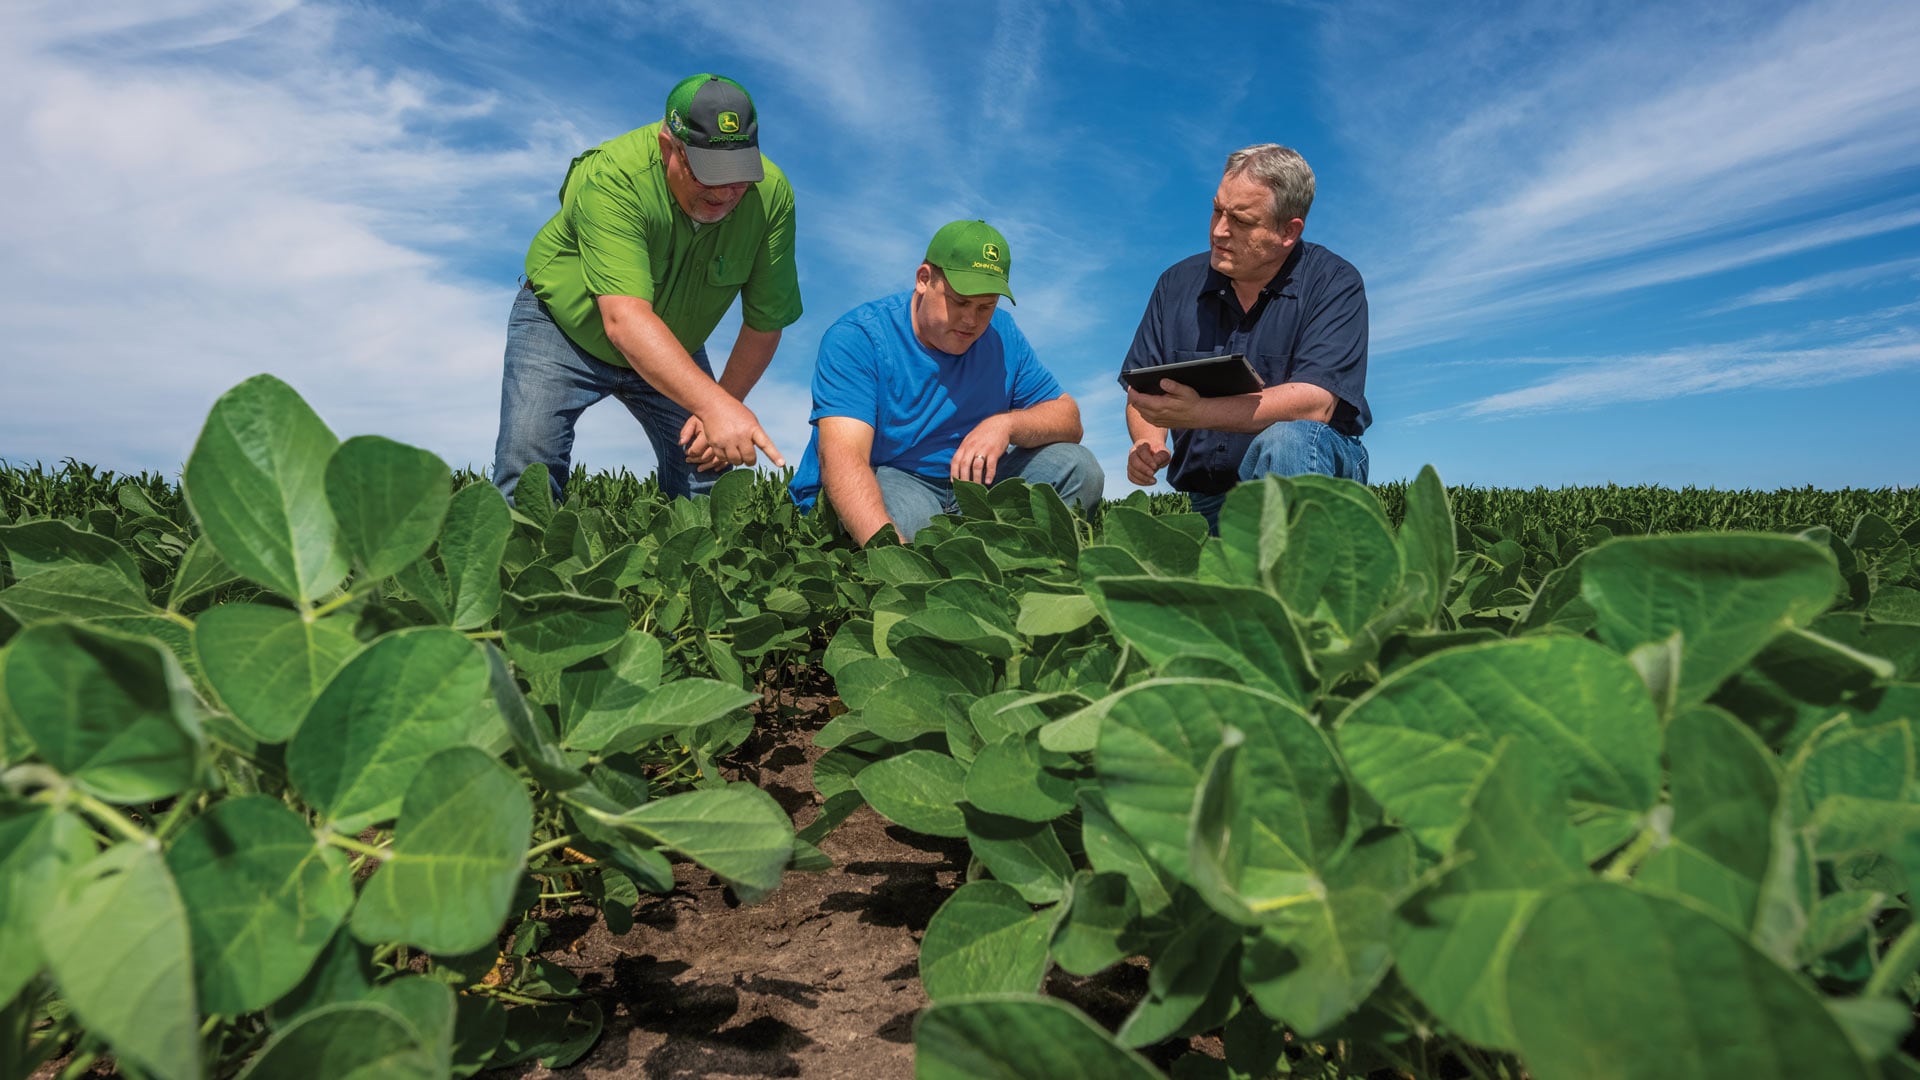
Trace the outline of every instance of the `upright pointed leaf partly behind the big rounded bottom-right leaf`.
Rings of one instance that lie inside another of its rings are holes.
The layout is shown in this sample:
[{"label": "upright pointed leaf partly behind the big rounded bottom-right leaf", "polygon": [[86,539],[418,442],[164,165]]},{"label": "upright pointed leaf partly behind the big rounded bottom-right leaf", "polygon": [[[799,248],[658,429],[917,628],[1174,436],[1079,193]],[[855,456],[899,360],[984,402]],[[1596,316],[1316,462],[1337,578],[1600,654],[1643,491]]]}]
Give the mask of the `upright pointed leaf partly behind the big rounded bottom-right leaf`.
[{"label": "upright pointed leaf partly behind the big rounded bottom-right leaf", "polygon": [[1588,878],[1565,805],[1538,751],[1501,740],[1473,790],[1455,869],[1394,919],[1402,982],[1473,1043],[1519,1045],[1507,1007],[1513,942],[1553,888]]}]

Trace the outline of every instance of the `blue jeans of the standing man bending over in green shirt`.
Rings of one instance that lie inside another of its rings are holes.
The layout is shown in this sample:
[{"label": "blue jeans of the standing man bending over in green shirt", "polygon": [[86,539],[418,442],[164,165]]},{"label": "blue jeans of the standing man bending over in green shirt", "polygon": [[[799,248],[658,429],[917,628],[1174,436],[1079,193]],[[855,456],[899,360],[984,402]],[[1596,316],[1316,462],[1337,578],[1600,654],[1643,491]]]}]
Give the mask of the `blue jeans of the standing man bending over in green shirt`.
[{"label": "blue jeans of the standing man bending over in green shirt", "polygon": [[[707,350],[693,363],[712,377]],[[532,288],[520,288],[507,319],[507,369],[499,382],[499,438],[493,442],[493,486],[507,502],[520,473],[534,461],[547,465],[553,498],[564,498],[572,471],[574,425],[588,405],[618,398],[653,442],[660,492],[666,498],[705,494],[720,473],[695,473],[680,448],[687,411],[660,394],[632,367],[614,367],[576,346],[555,325]]]}]

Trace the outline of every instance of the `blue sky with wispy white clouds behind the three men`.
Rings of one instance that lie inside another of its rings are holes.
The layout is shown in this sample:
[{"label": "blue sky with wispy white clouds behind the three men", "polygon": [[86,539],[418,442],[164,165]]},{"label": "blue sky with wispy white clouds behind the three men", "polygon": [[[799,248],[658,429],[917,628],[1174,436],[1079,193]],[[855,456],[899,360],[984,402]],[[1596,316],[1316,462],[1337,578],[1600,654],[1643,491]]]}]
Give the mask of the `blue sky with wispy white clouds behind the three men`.
[{"label": "blue sky with wispy white clouds behind the three men", "polygon": [[[1375,480],[1920,482],[1920,6],[1183,8],[10,0],[0,457],[173,475],[271,371],[486,465],[566,160],[720,71],[799,200],[806,315],[749,398],[791,461],[822,331],[985,217],[1127,494],[1146,294],[1284,142],[1367,279]],[[612,402],[576,459],[653,465]]]}]

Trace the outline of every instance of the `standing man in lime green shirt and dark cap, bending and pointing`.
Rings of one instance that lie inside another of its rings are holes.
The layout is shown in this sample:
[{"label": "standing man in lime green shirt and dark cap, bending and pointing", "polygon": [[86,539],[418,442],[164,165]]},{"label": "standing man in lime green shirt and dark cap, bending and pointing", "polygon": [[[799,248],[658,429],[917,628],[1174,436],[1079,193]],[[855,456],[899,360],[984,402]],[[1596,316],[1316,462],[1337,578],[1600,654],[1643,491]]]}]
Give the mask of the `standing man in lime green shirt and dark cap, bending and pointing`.
[{"label": "standing man in lime green shirt and dark cap, bending and pointing", "polygon": [[[739,336],[716,382],[707,334],[735,296]],[[705,492],[756,452],[785,465],[743,402],[799,317],[793,188],[760,154],[753,98],[720,75],[684,79],[664,121],[574,158],[561,211],[526,250],[493,482],[513,498],[543,461],[561,498],[574,423],[607,396],[647,430],[668,496]]]}]

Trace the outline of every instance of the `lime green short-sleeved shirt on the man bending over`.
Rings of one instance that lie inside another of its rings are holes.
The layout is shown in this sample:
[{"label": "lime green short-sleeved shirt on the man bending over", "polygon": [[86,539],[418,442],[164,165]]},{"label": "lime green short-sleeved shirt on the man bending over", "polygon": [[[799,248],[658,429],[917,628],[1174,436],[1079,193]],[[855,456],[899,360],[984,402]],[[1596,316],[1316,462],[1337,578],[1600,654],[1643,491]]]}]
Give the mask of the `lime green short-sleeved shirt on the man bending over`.
[{"label": "lime green short-sleeved shirt on the man bending over", "polygon": [[666,188],[659,123],[609,138],[574,158],[561,211],[526,250],[526,281],[580,348],[626,367],[601,323],[595,296],[637,296],[693,352],[733,298],[755,331],[801,317],[793,269],[793,188],[766,156],[766,179],[724,221],[693,227]]}]

